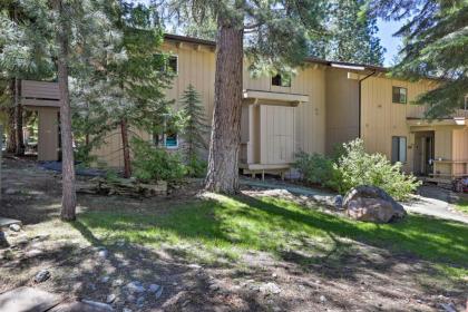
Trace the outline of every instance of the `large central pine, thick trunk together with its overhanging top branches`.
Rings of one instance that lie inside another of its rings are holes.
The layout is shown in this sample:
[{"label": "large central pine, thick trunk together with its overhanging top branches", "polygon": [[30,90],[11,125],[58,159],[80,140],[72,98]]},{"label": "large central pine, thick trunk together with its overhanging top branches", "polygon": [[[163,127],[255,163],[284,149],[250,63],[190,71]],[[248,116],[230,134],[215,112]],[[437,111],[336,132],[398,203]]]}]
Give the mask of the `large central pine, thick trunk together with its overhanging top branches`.
[{"label": "large central pine, thick trunk together with its overhanging top branches", "polygon": [[169,10],[191,12],[199,23],[214,17],[216,35],[215,103],[206,189],[238,191],[242,72],[244,53],[252,75],[299,66],[308,55],[308,37],[322,29],[323,2],[173,0]]}]

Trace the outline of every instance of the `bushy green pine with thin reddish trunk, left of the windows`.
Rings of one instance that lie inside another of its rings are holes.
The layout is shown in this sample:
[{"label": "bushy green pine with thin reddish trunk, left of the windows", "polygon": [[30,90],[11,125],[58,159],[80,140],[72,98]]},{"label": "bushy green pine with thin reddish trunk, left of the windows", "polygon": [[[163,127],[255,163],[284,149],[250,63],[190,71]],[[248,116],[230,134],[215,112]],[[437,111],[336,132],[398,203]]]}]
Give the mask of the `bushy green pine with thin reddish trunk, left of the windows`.
[{"label": "bushy green pine with thin reddish trunk, left of the windows", "polygon": [[[173,72],[165,70],[167,56],[160,52],[163,31],[153,8],[131,2],[105,7],[110,25],[100,47],[94,51],[94,67],[79,77],[74,90],[76,121],[85,135],[92,134],[92,146],[118,130],[124,156],[124,176],[131,175],[130,137],[135,129],[157,133],[162,116],[172,101],[165,99]],[[90,148],[88,148],[90,149]]]}]

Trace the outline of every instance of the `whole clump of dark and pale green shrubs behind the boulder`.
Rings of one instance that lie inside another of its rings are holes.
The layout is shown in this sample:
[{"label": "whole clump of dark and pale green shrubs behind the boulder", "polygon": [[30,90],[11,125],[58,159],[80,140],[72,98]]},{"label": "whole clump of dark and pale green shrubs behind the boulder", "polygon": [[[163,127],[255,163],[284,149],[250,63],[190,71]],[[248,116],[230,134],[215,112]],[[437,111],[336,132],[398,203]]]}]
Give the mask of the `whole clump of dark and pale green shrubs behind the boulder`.
[{"label": "whole clump of dark and pale green shrubs behind the boulder", "polygon": [[401,201],[420,185],[416,177],[402,173],[401,163],[391,164],[382,154],[365,153],[362,139],[343,144],[339,155],[329,158],[299,153],[294,167],[305,182],[321,184],[340,194],[359,185],[373,185]]}]

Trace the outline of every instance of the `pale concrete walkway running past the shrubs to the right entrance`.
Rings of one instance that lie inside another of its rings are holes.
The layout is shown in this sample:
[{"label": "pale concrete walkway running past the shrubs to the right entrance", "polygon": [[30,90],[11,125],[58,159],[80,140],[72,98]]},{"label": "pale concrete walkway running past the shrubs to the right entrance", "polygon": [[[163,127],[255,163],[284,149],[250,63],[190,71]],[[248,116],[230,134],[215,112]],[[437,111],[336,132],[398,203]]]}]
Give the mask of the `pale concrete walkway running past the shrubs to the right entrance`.
[{"label": "pale concrete walkway running past the shrubs to the right entrance", "polygon": [[[333,203],[335,193],[325,192],[322,189],[298,186],[284,182],[269,182],[242,178],[241,185],[250,187],[267,188],[267,189],[285,189],[295,195],[304,195],[321,203]],[[438,192],[439,191],[439,192]],[[448,195],[445,198],[443,191],[440,188],[428,187],[421,192],[421,195],[410,203],[402,203],[403,207],[411,213],[433,216],[438,218],[452,220],[468,224],[468,216],[461,213],[456,213],[450,209],[448,203]]]}]

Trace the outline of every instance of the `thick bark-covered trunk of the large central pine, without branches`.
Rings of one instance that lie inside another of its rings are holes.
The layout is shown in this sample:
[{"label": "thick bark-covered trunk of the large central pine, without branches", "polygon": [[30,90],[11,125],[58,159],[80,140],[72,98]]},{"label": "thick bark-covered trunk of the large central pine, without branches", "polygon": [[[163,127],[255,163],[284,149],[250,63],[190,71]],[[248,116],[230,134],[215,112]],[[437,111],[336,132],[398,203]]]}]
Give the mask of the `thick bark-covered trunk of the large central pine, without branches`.
[{"label": "thick bark-covered trunk of the large central pine, without branches", "polygon": [[207,191],[225,194],[238,191],[243,30],[234,25],[220,18],[215,103],[205,185]]}]

